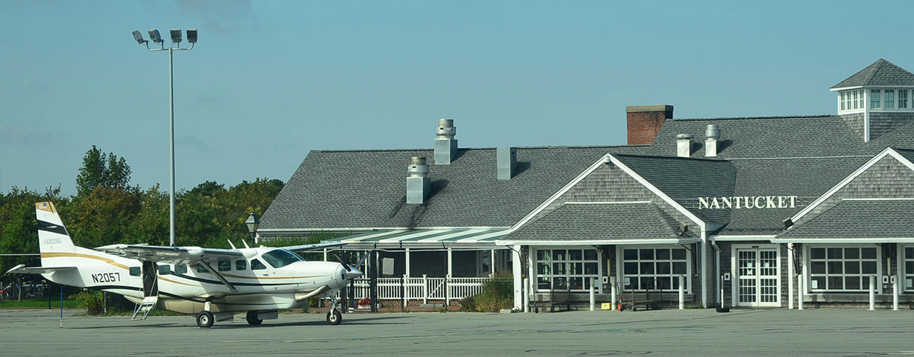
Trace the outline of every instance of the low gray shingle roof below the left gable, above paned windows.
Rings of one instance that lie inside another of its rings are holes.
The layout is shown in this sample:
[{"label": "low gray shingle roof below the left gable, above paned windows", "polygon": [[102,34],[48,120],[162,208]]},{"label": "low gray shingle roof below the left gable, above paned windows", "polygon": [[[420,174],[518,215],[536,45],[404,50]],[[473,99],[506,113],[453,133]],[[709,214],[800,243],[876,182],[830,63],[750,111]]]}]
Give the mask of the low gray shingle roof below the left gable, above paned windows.
[{"label": "low gray shingle roof below the left gable, above paned windows", "polygon": [[[652,203],[565,204],[502,239],[594,241],[676,239],[679,224]],[[690,232],[682,237],[695,237]]]}]

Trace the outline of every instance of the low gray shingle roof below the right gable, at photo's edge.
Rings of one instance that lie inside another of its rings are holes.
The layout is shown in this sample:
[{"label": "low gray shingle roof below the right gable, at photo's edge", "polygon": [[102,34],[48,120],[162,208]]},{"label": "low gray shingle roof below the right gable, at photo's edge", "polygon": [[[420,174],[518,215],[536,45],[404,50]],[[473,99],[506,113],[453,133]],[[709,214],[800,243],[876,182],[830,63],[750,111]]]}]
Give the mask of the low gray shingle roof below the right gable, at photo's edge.
[{"label": "low gray shingle roof below the right gable, at photo's edge", "polygon": [[844,200],[779,240],[914,238],[914,199]]}]

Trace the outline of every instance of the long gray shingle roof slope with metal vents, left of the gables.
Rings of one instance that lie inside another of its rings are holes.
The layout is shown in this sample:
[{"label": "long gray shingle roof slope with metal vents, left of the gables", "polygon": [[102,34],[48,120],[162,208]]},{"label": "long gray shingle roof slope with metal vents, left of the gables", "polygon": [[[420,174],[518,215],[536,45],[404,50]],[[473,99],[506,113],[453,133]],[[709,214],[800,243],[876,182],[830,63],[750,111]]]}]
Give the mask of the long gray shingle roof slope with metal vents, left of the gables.
[{"label": "long gray shingle roof slope with metal vents, left of the gables", "polygon": [[[527,147],[496,180],[495,149],[460,149],[451,165],[432,150],[312,151],[260,219],[260,230],[511,226],[608,152],[646,146]],[[430,198],[407,205],[407,164],[429,158]],[[263,231],[269,234],[268,231]]]}]

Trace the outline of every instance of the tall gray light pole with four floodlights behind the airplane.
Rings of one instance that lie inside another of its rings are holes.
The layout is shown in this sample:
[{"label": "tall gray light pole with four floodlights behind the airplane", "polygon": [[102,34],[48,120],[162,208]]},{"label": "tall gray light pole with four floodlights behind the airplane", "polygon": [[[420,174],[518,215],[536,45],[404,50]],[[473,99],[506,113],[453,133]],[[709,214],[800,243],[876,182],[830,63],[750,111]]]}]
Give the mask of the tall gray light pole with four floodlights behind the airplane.
[{"label": "tall gray light pole with four floodlights behind the airplane", "polygon": [[172,46],[165,48],[165,41],[159,34],[159,30],[149,30],[149,39],[152,40],[156,45],[159,45],[159,48],[152,48],[149,47],[149,41],[143,39],[143,34],[140,33],[140,31],[133,31],[133,39],[135,39],[136,43],[140,45],[146,45],[146,49],[153,52],[168,51],[168,110],[171,112],[171,121],[169,123],[169,129],[171,131],[171,142],[168,147],[169,152],[171,153],[171,186],[169,191],[170,202],[168,205],[170,211],[168,242],[172,247],[175,247],[175,69],[173,66],[172,54],[175,51],[189,51],[194,49],[194,45],[197,45],[197,29],[187,29],[187,42],[190,43],[190,48],[181,48],[180,28],[172,28],[171,37]]}]

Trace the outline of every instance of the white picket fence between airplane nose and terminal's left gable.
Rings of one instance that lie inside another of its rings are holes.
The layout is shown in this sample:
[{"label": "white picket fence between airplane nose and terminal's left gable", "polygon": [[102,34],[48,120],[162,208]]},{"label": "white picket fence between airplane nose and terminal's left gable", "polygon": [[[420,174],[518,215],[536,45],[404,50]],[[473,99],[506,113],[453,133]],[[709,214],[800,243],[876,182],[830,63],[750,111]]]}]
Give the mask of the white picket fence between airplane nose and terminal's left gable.
[{"label": "white picket fence between airplane nose and terminal's left gable", "polygon": [[[377,278],[378,300],[402,300],[406,306],[409,300],[422,300],[428,303],[430,299],[444,300],[450,304],[452,300],[463,299],[483,291],[483,283],[490,278],[428,278],[422,276],[402,278]],[[354,280],[356,300],[367,298],[371,293],[371,282],[368,278]]]}]

